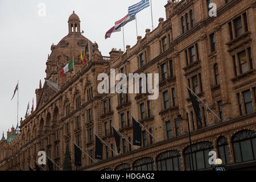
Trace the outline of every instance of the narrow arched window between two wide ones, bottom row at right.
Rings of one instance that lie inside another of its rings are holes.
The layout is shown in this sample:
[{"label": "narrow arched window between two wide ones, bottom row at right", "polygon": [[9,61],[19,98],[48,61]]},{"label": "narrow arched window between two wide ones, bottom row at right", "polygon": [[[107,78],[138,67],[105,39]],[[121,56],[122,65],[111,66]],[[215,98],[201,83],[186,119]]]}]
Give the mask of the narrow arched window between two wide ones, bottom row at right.
[{"label": "narrow arched window between two wide ones, bottom row at right", "polygon": [[229,146],[226,137],[220,137],[217,141],[218,158],[222,160],[222,164],[230,164]]}]

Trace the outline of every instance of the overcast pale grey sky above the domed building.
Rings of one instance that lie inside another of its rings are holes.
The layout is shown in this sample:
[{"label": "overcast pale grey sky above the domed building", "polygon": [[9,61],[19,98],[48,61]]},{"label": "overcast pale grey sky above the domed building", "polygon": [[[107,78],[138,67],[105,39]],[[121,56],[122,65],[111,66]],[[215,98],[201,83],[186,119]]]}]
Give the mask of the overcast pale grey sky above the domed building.
[{"label": "overcast pale grey sky above the domed building", "polygon": [[[97,42],[102,55],[109,56],[112,48],[123,49],[122,32],[105,40],[105,33],[114,22],[128,13],[128,7],[140,0],[0,0],[0,136],[16,126],[17,95],[11,101],[19,80],[19,119],[24,118],[27,104],[36,102],[35,89],[46,77],[46,61],[51,44],[57,44],[68,34],[69,15],[81,20],[84,36]],[[46,16],[38,16],[38,5],[46,5]],[[158,19],[166,19],[167,0],[152,0],[154,27]],[[151,28],[150,7],[137,14],[138,35],[144,37]],[[152,29],[152,28],[151,28]],[[125,26],[125,45],[137,42],[135,21]],[[36,103],[35,103],[36,104]],[[35,107],[35,106],[34,106]],[[0,137],[1,139],[2,137]]]}]

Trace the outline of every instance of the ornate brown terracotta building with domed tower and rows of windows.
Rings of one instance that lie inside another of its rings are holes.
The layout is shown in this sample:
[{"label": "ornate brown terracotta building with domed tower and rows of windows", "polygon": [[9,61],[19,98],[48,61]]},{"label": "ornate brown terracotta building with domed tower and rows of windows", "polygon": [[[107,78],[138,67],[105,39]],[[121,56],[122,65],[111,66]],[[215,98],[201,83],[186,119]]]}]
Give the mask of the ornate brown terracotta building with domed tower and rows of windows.
[{"label": "ornate brown terracotta building with domed tower and rows of windows", "polygon": [[[208,15],[210,2],[217,5],[216,17]],[[68,35],[51,46],[44,84],[40,81],[35,91],[36,109],[20,120],[20,134],[12,128],[0,142],[0,169],[35,168],[42,150],[63,167],[67,144],[75,169],[74,143],[94,158],[97,134],[117,151],[111,125],[132,141],[131,115],[159,141],[142,129],[142,147],[121,138],[120,154],[104,145],[103,160],[95,162],[82,152],[79,170],[205,170],[211,167],[212,150],[227,169],[256,169],[256,1],[181,0],[168,1],[165,8],[166,20],[159,18],[158,27],[138,36],[126,52],[113,48],[110,56],[102,56],[97,43],[90,42],[86,65],[79,57],[90,40],[80,33],[79,16],[73,13]],[[75,74],[72,70],[60,78],[73,56]],[[98,93],[97,76],[110,75],[110,69],[115,75],[159,73],[159,98]],[[222,121],[199,102],[202,122],[197,122],[187,86]]]}]

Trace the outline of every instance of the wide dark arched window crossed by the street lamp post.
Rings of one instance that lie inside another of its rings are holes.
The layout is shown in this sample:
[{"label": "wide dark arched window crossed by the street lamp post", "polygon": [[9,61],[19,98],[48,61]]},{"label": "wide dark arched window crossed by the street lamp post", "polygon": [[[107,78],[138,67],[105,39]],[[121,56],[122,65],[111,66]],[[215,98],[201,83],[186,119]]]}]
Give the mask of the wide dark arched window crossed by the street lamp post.
[{"label": "wide dark arched window crossed by the street lamp post", "polygon": [[210,157],[209,151],[213,151],[213,144],[211,142],[195,143],[185,148],[184,159],[186,170],[191,171],[211,167],[208,162]]}]

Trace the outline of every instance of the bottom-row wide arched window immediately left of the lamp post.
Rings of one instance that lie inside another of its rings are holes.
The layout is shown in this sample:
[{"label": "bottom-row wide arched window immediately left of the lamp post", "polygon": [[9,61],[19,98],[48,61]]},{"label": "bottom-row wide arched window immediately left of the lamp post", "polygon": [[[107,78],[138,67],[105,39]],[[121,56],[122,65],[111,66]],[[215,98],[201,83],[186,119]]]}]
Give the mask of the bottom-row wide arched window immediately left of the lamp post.
[{"label": "bottom-row wide arched window immediately left of the lamp post", "polygon": [[181,171],[180,153],[177,150],[163,152],[156,159],[158,171]]}]

